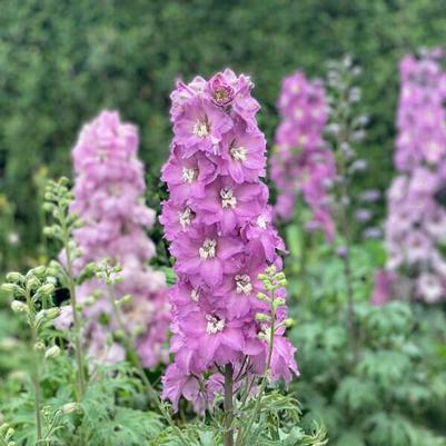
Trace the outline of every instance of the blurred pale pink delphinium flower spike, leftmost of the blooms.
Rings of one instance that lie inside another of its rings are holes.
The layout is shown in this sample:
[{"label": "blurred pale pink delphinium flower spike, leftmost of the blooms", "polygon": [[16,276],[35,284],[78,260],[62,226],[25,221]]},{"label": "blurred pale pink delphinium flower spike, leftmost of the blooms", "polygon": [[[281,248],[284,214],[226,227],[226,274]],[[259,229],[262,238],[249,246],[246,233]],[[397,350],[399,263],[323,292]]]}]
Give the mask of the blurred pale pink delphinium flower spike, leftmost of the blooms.
[{"label": "blurred pale pink delphinium flower spike, leftmost of the blooms", "polygon": [[78,300],[89,303],[83,313],[89,319],[86,337],[90,354],[108,361],[123,358],[123,348],[107,339],[108,328],[118,327],[110,298],[130,295],[130,301],[122,305],[123,323],[136,338],[143,365],[152,367],[168,359],[163,345],[170,308],[163,274],[148,265],[155,246],[146,230],[152,226],[155,212],[143,202],[143,168],[137,150],[137,129],[122,123],[118,112],[102,111],[86,125],[72,150],[76,182],[70,210],[82,220],[73,234],[81,252],[76,269],[106,258],[122,268],[120,284],[111,289],[97,279],[77,289]]}]

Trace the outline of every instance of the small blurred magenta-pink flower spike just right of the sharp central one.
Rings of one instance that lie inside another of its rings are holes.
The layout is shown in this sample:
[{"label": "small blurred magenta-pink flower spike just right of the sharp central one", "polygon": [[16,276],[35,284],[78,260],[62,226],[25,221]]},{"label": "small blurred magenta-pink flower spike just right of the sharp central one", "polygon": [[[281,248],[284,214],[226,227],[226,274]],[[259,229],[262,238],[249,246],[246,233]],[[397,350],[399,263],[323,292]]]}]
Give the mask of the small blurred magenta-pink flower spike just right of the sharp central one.
[{"label": "small blurred magenta-pink flower spike just right of the sharp central one", "polygon": [[328,118],[325,90],[319,82],[309,81],[297,71],[284,79],[278,108],[281,123],[271,157],[271,178],[278,191],[275,212],[289,220],[301,194],[313,211],[308,227],[323,229],[331,239],[335,225],[327,187],[336,168],[333,152],[323,139]]}]

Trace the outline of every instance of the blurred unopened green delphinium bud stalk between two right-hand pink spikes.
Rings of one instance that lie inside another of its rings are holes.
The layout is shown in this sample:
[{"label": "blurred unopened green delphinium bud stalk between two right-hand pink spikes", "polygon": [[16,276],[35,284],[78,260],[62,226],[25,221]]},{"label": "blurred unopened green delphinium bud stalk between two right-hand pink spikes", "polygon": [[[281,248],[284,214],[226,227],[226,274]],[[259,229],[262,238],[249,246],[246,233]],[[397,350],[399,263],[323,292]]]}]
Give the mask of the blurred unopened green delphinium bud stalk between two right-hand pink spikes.
[{"label": "blurred unopened green delphinium bud stalk between two right-hand pink spikes", "polygon": [[347,54],[339,61],[329,63],[327,92],[329,99],[329,121],[327,137],[336,159],[336,180],[333,187],[333,206],[338,237],[337,254],[344,264],[344,277],[347,295],[347,329],[355,361],[359,358],[358,333],[355,316],[353,276],[351,276],[351,224],[354,192],[351,180],[357,172],[363,172],[367,163],[358,159],[355,145],[364,139],[367,117],[356,115],[356,105],[360,100],[360,89],[356,78],[360,69],[353,65]]}]

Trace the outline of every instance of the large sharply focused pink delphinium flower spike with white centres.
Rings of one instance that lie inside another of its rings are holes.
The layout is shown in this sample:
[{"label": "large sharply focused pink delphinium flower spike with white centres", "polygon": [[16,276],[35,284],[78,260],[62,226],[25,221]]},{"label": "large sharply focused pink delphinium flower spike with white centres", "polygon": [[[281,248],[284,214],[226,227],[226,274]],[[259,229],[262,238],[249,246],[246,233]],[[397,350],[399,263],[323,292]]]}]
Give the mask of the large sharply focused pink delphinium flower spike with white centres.
[{"label": "large sharply focused pink delphinium flower spike with white centres", "polygon": [[[209,81],[179,81],[171,95],[175,136],[162,169],[170,198],[161,222],[178,281],[170,290],[176,358],[163,377],[163,397],[176,407],[181,395],[197,410],[206,407],[221,392],[225,365],[234,367],[235,386],[266,368],[261,335],[268,323],[256,315],[268,304],[257,298],[258,275],[269,265],[280,268],[284,245],[259,179],[266,141],[251,88],[248,77],[227,69]],[[286,318],[285,307],[277,318]],[[276,333],[271,378],[289,380],[297,366],[284,331]]]}]

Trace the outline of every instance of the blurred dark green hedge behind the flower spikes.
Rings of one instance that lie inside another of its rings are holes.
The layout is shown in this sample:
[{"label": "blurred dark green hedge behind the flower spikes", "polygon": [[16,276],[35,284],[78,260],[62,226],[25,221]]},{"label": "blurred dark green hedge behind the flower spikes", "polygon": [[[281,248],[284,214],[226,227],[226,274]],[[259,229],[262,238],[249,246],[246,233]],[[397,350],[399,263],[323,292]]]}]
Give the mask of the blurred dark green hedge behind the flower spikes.
[{"label": "blurred dark green hedge behind the flower spikes", "polygon": [[77,132],[101,108],[118,108],[139,126],[140,156],[157,175],[171,137],[175,79],[227,66],[252,76],[271,141],[281,78],[298,68],[324,76],[327,59],[354,54],[371,118],[360,155],[374,175],[361,186],[384,190],[392,178],[397,62],[420,46],[445,47],[444,9],[443,0],[3,0],[0,214],[3,227],[17,219],[7,241],[19,237],[27,252],[37,245],[39,180],[70,171]]}]

